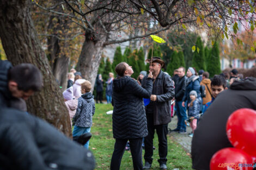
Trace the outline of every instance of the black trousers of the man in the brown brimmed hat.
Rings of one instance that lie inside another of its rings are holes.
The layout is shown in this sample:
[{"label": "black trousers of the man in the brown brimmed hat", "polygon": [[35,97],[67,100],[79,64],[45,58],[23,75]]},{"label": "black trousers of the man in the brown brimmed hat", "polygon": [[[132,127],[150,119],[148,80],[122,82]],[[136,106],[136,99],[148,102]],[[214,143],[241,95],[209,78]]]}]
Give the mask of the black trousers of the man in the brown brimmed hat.
[{"label": "black trousers of the man in the brown brimmed hat", "polygon": [[145,137],[144,144],[145,144],[145,154],[144,159],[145,161],[149,162],[150,164],[153,161],[153,139],[156,134],[158,136],[159,141],[159,157],[158,160],[160,165],[166,164],[167,162],[167,132],[168,132],[168,124],[161,124],[161,125],[154,125],[154,114],[147,114],[147,121],[148,121],[148,136]]}]

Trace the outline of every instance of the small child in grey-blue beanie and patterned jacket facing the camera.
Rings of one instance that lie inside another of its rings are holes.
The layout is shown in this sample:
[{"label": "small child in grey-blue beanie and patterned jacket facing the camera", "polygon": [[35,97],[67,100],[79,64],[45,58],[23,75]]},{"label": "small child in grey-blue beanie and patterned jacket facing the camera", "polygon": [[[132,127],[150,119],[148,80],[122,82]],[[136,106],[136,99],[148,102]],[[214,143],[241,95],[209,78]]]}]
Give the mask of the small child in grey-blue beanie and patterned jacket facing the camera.
[{"label": "small child in grey-blue beanie and patterned jacket facing the camera", "polygon": [[188,134],[188,136],[193,137],[194,130],[197,128],[197,119],[199,118],[199,112],[200,112],[200,102],[197,98],[197,92],[192,90],[190,92],[190,99],[191,102],[189,104],[188,108],[188,118],[190,120],[190,127],[192,129],[192,133]]}]

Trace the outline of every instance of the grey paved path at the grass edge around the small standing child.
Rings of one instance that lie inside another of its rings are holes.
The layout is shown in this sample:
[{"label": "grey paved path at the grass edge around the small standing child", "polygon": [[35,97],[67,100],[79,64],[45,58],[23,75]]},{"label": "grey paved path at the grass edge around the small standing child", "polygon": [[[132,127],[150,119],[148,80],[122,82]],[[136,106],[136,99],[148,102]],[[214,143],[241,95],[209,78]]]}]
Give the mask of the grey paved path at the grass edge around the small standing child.
[{"label": "grey paved path at the grass edge around the small standing child", "polygon": [[[177,127],[177,122],[178,122],[178,118],[177,116],[174,116],[172,118],[172,122],[170,122],[168,124],[168,128],[170,129],[175,129]],[[191,141],[192,141],[192,137],[188,136],[188,133],[191,133],[192,129],[190,127],[187,127],[187,134],[179,134],[177,132],[172,131],[172,133],[170,133],[169,135],[172,136],[172,138],[180,143],[184,149],[186,150],[186,152],[191,153]]]}]

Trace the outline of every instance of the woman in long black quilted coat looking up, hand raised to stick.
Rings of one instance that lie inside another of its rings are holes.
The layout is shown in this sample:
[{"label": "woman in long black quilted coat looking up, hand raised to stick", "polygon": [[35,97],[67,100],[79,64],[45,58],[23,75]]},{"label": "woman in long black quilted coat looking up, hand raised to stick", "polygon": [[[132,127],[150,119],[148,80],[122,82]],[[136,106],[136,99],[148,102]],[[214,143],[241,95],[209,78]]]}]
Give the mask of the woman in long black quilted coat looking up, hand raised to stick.
[{"label": "woman in long black quilted coat looking up, hand raised to stick", "polygon": [[121,62],[115,67],[118,77],[113,81],[114,152],[110,169],[119,169],[126,142],[130,141],[133,168],[142,169],[142,138],[148,135],[147,118],[142,98],[150,98],[153,75],[150,72],[145,89],[131,78],[132,67]]}]

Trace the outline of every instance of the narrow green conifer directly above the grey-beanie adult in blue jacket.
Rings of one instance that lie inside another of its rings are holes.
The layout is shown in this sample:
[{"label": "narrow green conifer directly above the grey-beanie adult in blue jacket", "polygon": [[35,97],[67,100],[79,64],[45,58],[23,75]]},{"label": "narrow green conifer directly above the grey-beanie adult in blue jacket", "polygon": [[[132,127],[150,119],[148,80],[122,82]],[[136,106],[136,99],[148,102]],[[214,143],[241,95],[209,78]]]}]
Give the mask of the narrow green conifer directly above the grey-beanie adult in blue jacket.
[{"label": "narrow green conifer directly above the grey-beanie adult in blue jacket", "polygon": [[[199,52],[198,52],[199,49]],[[204,56],[204,45],[201,40],[201,37],[197,38],[196,42],[196,51],[193,53],[192,59],[192,67],[196,68],[197,72],[199,70],[206,70],[205,69],[205,56]]]}]

